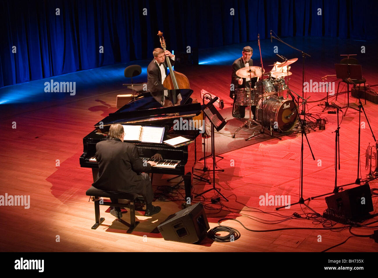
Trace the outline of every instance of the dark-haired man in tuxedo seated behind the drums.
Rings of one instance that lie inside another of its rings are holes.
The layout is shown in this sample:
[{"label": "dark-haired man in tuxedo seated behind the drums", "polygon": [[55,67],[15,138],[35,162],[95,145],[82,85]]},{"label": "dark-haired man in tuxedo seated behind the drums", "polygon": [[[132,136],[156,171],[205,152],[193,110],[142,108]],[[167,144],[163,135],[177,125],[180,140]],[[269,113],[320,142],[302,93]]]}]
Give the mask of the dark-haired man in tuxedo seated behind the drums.
[{"label": "dark-haired man in tuxedo seated behind the drums", "polygon": [[[232,105],[232,116],[234,118],[245,117],[245,106],[239,106],[235,104],[235,101],[236,101],[235,89],[249,88],[250,85],[251,85],[251,88],[253,88],[255,86],[255,82],[257,81],[257,78],[252,78],[252,79],[240,78],[239,76],[236,75],[236,71],[239,70],[240,68],[253,66],[253,61],[251,59],[252,54],[253,54],[252,47],[246,46],[243,48],[242,57],[235,60],[234,63],[232,64],[231,84],[234,84],[234,86],[231,86],[230,88],[230,98],[234,99],[234,103]],[[253,113],[253,119],[255,120],[256,106],[251,106],[251,111]]]}]

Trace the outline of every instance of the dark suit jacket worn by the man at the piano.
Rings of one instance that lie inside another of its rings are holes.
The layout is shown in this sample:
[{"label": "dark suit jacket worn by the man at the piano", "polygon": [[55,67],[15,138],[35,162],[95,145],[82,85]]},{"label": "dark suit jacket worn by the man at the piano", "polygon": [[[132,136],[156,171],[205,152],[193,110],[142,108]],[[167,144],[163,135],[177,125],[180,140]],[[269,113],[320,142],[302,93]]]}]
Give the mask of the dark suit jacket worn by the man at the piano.
[{"label": "dark suit jacket worn by the man at the piano", "polygon": [[144,181],[140,172],[148,172],[151,165],[143,166],[135,145],[118,138],[96,144],[98,179],[92,184],[104,191],[140,193]]}]

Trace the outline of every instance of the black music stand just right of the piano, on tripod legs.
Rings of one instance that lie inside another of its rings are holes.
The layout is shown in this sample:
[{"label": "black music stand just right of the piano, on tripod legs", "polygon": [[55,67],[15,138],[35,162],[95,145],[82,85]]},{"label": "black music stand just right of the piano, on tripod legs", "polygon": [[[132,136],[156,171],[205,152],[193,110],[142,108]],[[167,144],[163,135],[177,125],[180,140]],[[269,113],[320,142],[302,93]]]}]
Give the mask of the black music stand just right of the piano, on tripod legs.
[{"label": "black music stand just right of the piano, on tripod legs", "polygon": [[[208,172],[213,172],[213,179],[212,179],[212,188],[206,190],[206,191],[203,191],[202,193],[200,194],[197,194],[195,195],[194,197],[198,197],[198,196],[201,196],[211,190],[215,190],[219,193],[220,196],[222,196],[227,202],[228,202],[228,199],[223,196],[222,193],[220,193],[219,189],[215,188],[215,171],[217,172],[223,172],[225,170],[215,170],[215,167],[216,167],[216,163],[215,163],[215,138],[214,138],[214,129],[216,129],[217,131],[221,130],[225,125],[226,125],[226,121],[225,119],[223,119],[222,115],[220,115],[220,113],[218,112],[218,110],[215,108],[215,106],[213,105],[213,103],[218,99],[218,97],[215,97],[213,98],[208,104],[204,105],[203,106],[203,113],[206,117],[208,117],[210,123],[211,123],[211,156],[212,156],[212,160],[213,160],[213,169],[207,169],[206,171]],[[204,162],[206,163],[206,157],[204,159]]]}]

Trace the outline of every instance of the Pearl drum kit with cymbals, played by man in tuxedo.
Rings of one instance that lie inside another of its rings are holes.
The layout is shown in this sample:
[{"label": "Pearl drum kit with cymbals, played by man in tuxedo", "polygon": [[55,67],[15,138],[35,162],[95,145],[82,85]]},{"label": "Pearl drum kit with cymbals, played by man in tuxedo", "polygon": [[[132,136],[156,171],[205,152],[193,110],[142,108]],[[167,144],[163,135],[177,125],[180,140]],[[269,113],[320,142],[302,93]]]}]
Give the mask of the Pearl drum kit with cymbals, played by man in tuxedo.
[{"label": "Pearl drum kit with cymbals, played by man in tuxedo", "polygon": [[[233,138],[242,127],[251,129],[252,122],[270,129],[271,135],[273,130],[288,132],[293,129],[298,120],[297,105],[292,99],[288,99],[289,78],[285,82],[285,77],[292,74],[289,65],[297,60],[298,58],[294,58],[282,63],[274,63],[273,69],[265,75],[268,78],[257,81],[254,88],[235,89],[235,105],[249,106],[250,111],[251,106],[256,106],[256,121],[251,120],[250,112],[249,119],[235,131]],[[262,74],[264,71],[261,72],[261,67],[256,66],[240,68],[236,71],[236,75],[240,78],[259,78]]]}]

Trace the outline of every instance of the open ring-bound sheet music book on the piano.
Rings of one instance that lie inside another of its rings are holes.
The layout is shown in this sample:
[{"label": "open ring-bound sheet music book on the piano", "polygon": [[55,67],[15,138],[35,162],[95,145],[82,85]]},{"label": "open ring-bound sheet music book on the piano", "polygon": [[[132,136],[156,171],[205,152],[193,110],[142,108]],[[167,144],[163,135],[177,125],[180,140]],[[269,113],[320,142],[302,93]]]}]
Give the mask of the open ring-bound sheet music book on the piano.
[{"label": "open ring-bound sheet music book on the piano", "polygon": [[165,127],[122,125],[125,141],[140,141],[145,143],[163,143]]}]

